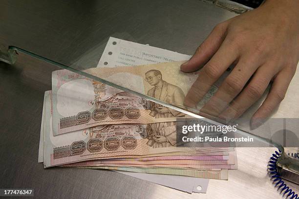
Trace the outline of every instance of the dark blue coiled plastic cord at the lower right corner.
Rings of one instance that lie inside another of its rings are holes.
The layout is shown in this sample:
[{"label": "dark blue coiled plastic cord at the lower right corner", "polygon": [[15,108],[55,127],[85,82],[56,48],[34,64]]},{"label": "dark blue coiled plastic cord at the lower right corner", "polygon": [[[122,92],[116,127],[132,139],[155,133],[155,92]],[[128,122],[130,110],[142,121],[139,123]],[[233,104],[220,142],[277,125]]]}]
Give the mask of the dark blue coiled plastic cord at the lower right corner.
[{"label": "dark blue coiled plastic cord at the lower right corner", "polygon": [[[279,151],[279,152],[278,152]],[[280,178],[280,175],[278,173],[278,169],[276,166],[277,160],[278,158],[281,156],[281,151],[278,150],[275,151],[275,154],[272,154],[272,157],[270,158],[269,161],[269,170],[270,170],[270,175],[271,179],[273,180],[273,182],[275,183],[275,186],[278,186],[278,190],[280,189],[281,193],[283,193],[283,195],[287,194],[286,197],[290,197],[289,199],[299,199],[298,194],[295,194],[295,192],[290,189],[290,187],[288,187],[284,181]]]}]

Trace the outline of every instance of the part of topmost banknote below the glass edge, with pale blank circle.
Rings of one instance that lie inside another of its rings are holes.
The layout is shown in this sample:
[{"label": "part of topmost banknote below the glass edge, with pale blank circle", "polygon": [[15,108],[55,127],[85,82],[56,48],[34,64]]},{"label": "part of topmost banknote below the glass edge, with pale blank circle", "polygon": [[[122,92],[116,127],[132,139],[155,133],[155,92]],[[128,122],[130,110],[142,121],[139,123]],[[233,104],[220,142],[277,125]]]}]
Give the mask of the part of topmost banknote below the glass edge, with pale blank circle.
[{"label": "part of topmost banknote below the glass edge, with pale blank circle", "polygon": [[57,136],[103,124],[175,121],[177,115],[173,114],[156,117],[155,109],[147,109],[143,101],[136,95],[68,70],[54,71],[53,134]]}]

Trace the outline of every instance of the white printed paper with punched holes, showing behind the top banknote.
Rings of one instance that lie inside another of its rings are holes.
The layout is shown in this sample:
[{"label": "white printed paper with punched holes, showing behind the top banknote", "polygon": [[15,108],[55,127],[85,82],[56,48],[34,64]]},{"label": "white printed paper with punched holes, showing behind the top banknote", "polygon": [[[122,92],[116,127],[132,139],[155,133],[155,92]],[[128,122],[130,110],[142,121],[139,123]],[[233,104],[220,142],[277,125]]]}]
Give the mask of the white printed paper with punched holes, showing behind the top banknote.
[{"label": "white printed paper with punched holes, showing behind the top banknote", "polygon": [[190,55],[110,37],[97,67],[136,66],[190,58]]}]

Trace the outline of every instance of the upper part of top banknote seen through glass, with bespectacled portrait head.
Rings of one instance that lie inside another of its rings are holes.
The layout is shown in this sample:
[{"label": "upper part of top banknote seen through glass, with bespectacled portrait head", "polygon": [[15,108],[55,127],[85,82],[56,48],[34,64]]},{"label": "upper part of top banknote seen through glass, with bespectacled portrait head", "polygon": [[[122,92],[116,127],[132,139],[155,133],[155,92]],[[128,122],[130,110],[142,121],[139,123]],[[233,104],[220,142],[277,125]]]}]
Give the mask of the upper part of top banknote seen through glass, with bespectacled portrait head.
[{"label": "upper part of top banknote seen through glass, with bespectacled portrait head", "polygon": [[[225,72],[215,82],[196,108],[190,109],[184,106],[184,99],[198,75],[195,72],[181,72],[180,65],[183,62],[175,61],[114,68],[99,67],[90,68],[84,72],[92,75],[94,79],[107,80],[115,85],[146,95],[150,100],[163,101],[167,104],[196,112],[211,99],[223,79],[227,77],[228,72]],[[150,106],[151,104],[148,103],[147,105]]]}]

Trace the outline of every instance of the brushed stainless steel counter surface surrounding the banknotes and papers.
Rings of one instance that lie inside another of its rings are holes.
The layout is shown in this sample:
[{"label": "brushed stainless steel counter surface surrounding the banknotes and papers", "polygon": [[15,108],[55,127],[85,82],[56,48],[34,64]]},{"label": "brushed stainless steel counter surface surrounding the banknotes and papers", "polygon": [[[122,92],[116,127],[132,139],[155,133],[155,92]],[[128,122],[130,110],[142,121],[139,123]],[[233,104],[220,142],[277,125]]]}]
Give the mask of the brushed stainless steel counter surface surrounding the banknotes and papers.
[{"label": "brushed stainless steel counter surface surrounding the banknotes and papers", "polygon": [[[95,66],[109,36],[192,54],[215,24],[233,16],[200,0],[1,0],[0,43],[62,63]],[[239,169],[229,172],[228,181],[210,180],[206,195],[111,171],[43,169],[37,163],[43,93],[51,89],[51,71],[57,69],[23,55],[15,65],[0,62],[0,188],[34,188],[38,199],[281,198],[266,170],[274,148],[238,148]],[[288,91],[293,97],[288,94],[278,117],[296,115],[298,73],[296,78]]]}]

